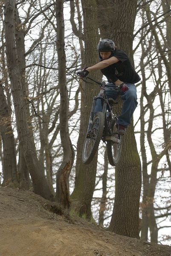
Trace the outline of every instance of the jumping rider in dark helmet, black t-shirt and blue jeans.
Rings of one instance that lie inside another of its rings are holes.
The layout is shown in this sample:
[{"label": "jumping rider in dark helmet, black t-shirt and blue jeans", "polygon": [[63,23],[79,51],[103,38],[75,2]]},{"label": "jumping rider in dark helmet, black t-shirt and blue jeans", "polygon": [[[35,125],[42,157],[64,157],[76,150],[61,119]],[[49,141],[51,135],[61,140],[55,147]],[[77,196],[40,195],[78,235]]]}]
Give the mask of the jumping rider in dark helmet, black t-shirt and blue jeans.
[{"label": "jumping rider in dark helmet, black t-shirt and blue jeans", "polygon": [[[107,99],[113,98],[116,100],[119,94],[122,95],[121,98],[124,102],[122,113],[118,117],[118,133],[124,135],[138,104],[135,83],[140,81],[140,77],[131,65],[126,53],[117,49],[112,40],[100,40],[97,50],[100,62],[92,67],[84,68],[84,70],[78,72],[78,75],[81,78],[86,78],[91,71],[101,70],[108,80],[105,87]],[[121,86],[120,92],[111,90],[117,86]],[[97,112],[102,112],[100,99],[96,100],[95,113]]]}]

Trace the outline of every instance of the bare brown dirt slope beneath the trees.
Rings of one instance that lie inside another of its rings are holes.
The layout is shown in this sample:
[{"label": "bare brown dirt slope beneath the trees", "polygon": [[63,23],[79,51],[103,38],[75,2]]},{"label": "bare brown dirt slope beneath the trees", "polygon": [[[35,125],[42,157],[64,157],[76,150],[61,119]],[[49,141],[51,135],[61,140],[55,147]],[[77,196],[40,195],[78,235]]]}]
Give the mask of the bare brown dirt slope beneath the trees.
[{"label": "bare brown dirt slope beneath the trees", "polygon": [[0,256],[171,256],[170,247],[49,212],[30,191],[0,187]]}]

